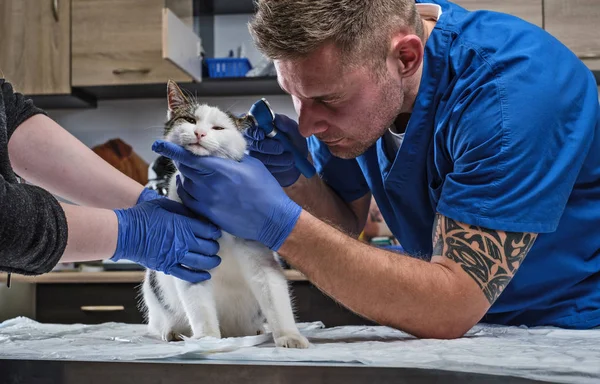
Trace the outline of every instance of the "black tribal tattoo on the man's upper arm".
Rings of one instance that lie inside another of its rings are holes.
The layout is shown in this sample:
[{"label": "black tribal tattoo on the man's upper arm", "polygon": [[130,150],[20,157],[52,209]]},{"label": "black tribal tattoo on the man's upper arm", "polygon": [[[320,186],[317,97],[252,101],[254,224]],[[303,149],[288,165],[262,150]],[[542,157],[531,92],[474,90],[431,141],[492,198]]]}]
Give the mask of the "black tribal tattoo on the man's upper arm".
[{"label": "black tribal tattoo on the man's upper arm", "polygon": [[479,285],[490,304],[500,296],[537,238],[464,224],[438,214],[433,254],[458,263]]}]

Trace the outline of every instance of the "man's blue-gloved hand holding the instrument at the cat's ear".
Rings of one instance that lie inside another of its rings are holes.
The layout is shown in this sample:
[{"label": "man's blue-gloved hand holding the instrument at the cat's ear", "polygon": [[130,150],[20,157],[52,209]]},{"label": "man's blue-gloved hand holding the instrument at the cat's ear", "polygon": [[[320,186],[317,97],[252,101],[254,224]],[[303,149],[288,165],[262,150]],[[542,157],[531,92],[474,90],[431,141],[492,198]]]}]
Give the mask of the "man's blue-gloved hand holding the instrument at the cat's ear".
[{"label": "man's blue-gloved hand holding the instrument at the cat's ear", "polygon": [[[298,132],[298,123],[285,115],[275,114],[275,126],[290,138],[292,145],[298,148],[304,157],[308,156],[306,138]],[[244,136],[250,156],[260,160],[275,176],[279,185],[289,187],[298,180],[300,171],[295,166],[294,156],[277,140],[266,137],[257,127],[248,128]]]}]

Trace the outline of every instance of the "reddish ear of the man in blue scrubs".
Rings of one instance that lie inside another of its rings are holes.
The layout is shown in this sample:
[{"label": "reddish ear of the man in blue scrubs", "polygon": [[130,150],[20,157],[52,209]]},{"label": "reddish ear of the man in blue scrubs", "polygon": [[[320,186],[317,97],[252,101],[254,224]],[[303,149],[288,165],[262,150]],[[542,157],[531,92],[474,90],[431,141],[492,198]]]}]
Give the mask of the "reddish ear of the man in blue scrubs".
[{"label": "reddish ear of the man in blue scrubs", "polygon": [[424,49],[423,42],[417,35],[398,33],[390,41],[388,60],[396,66],[400,77],[410,77],[419,69]]}]

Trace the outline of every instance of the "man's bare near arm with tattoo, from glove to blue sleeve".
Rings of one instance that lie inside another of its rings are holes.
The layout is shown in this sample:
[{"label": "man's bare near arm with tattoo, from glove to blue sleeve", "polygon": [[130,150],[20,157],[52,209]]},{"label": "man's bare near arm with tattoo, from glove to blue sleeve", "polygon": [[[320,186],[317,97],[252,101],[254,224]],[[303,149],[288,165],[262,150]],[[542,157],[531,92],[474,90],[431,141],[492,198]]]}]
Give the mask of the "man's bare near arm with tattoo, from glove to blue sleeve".
[{"label": "man's bare near arm with tattoo, from glove to blue sleeve", "polygon": [[483,317],[535,239],[438,214],[426,262],[363,244],[303,211],[278,252],[356,313],[417,337],[446,339]]}]

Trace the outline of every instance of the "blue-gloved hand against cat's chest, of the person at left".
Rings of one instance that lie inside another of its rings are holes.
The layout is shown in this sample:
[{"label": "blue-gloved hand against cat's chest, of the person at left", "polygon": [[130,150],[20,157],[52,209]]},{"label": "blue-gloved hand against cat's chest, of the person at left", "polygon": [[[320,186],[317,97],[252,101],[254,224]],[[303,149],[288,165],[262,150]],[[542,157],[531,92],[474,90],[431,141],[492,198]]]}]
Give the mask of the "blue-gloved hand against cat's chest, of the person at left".
[{"label": "blue-gloved hand against cat's chest, of the person at left", "polygon": [[113,261],[131,260],[191,283],[210,279],[207,271],[221,263],[215,256],[221,231],[182,204],[157,199],[114,212],[119,235]]}]

